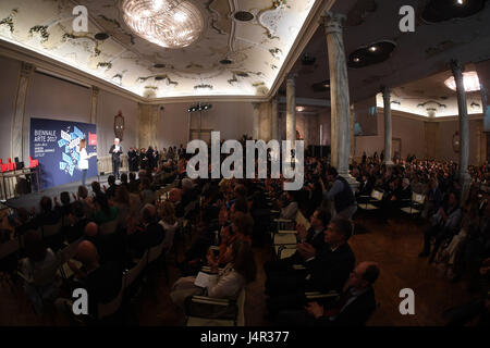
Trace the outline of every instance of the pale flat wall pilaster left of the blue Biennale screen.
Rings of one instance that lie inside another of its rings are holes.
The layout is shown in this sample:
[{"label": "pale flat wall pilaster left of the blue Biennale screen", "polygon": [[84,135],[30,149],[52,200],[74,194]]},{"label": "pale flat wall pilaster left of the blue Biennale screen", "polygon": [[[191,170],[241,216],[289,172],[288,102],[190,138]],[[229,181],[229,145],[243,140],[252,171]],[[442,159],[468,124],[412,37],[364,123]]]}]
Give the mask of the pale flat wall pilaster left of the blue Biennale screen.
[{"label": "pale flat wall pilaster left of the blue Biennale screen", "polygon": [[22,62],[12,119],[12,161],[19,157],[20,161],[28,162],[29,147],[27,135],[29,125],[26,124],[25,120],[25,103],[34,69],[34,65]]}]

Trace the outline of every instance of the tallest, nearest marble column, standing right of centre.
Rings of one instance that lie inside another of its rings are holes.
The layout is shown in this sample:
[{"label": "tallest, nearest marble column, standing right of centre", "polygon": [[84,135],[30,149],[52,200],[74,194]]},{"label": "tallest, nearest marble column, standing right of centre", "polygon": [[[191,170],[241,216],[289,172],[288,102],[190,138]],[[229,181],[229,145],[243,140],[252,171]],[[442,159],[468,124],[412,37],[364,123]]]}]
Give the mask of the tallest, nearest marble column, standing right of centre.
[{"label": "tallest, nearest marble column, standing right of centre", "polygon": [[342,21],[344,18],[344,15],[332,12],[326,12],[322,16],[329,51],[330,99],[332,110],[331,164],[336,167],[340,175],[347,179],[352,187],[355,187],[357,182],[348,173],[351,108],[347,64],[342,36]]}]

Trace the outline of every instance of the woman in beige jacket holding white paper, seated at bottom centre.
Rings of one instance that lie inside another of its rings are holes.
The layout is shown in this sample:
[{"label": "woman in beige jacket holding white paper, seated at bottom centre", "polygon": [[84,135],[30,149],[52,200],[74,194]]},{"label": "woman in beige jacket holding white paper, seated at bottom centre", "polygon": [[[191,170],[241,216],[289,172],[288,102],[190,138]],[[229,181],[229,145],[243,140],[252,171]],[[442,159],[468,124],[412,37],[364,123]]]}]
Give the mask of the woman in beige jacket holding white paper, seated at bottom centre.
[{"label": "woman in beige jacket holding white paper, seated at bottom centre", "polygon": [[209,260],[212,275],[206,288],[194,285],[195,276],[176,281],[170,294],[172,301],[183,309],[185,299],[194,295],[236,299],[245,285],[256,277],[257,266],[250,246],[238,240],[233,243],[226,248],[224,261],[226,265],[219,272],[218,266]]}]

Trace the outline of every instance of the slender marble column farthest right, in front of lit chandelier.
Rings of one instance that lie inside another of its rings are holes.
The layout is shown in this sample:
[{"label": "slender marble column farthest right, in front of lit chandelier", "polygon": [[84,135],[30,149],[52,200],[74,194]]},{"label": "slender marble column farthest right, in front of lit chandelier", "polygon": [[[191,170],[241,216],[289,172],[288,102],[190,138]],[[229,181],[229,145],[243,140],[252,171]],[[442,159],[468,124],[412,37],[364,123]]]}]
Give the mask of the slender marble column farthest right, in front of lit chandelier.
[{"label": "slender marble column farthest right, in front of lit chandelier", "polygon": [[461,201],[464,202],[468,195],[470,177],[468,174],[469,158],[469,125],[466,91],[463,84],[463,65],[458,61],[451,61],[454,80],[456,82],[457,109],[460,114],[460,185],[462,187]]}]

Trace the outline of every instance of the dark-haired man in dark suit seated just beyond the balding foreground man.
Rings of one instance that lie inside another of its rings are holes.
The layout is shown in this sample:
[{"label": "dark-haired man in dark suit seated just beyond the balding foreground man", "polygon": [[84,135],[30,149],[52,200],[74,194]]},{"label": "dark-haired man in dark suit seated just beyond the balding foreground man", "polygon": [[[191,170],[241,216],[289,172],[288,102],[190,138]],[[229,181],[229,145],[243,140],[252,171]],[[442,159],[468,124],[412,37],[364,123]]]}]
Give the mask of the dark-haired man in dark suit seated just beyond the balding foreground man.
[{"label": "dark-haired man in dark suit seated just beyond the balding foreground man", "polygon": [[305,270],[267,279],[266,289],[271,296],[267,303],[269,314],[305,304],[305,291],[340,291],[355,264],[347,244],[351,234],[352,223],[335,217],[324,231],[324,246],[319,251],[307,243],[298,245]]}]

